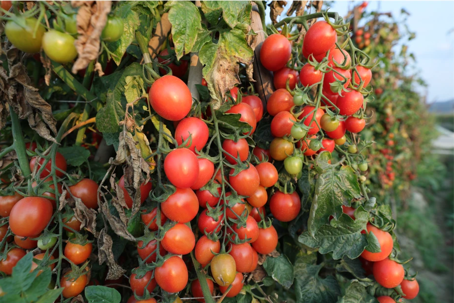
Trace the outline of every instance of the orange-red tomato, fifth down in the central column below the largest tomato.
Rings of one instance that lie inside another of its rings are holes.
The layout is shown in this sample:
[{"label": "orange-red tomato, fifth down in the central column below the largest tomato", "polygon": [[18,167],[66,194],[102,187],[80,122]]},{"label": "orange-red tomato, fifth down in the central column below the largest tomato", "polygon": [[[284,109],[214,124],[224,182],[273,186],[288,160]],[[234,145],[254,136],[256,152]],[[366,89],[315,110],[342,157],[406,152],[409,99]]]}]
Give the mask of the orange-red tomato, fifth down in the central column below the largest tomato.
[{"label": "orange-red tomato, fifth down in the central column below the largest tomato", "polygon": [[165,233],[161,244],[171,254],[186,255],[195,247],[195,236],[190,227],[177,223]]}]

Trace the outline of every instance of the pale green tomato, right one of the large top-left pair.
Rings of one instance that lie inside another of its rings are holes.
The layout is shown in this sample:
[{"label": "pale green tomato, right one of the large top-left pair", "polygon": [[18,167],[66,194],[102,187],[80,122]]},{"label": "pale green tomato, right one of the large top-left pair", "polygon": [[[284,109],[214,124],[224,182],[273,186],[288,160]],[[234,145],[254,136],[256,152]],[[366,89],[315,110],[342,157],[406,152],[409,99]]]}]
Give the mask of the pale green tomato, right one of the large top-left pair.
[{"label": "pale green tomato, right one of the large top-left pair", "polygon": [[51,30],[42,38],[42,48],[47,57],[58,63],[68,63],[77,57],[74,37],[70,34]]}]

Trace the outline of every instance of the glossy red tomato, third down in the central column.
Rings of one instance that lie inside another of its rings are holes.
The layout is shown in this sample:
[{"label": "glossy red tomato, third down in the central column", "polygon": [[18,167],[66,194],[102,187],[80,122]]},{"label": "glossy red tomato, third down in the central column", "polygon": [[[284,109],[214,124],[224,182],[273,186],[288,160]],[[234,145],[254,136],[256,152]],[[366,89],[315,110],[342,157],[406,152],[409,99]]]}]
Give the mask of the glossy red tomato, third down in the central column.
[{"label": "glossy red tomato, third down in the central column", "polygon": [[180,188],[189,188],[198,177],[198,161],[187,148],[172,150],[164,159],[164,172],[170,183]]}]

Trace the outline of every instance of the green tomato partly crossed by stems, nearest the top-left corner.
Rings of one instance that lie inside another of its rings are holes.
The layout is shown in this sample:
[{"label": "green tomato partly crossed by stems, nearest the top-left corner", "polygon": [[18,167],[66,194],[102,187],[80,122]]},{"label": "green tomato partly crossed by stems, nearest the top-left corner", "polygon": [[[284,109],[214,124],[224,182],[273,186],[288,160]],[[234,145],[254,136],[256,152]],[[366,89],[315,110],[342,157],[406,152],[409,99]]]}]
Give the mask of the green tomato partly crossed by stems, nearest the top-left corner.
[{"label": "green tomato partly crossed by stems, nearest the top-left corner", "polygon": [[41,49],[42,36],[46,32],[46,29],[42,24],[39,24],[36,34],[33,37],[34,28],[38,20],[35,18],[27,18],[19,21],[25,24],[25,28],[12,20],[6,22],[6,37],[15,47],[17,47],[17,49],[25,53],[33,54],[39,52]]}]

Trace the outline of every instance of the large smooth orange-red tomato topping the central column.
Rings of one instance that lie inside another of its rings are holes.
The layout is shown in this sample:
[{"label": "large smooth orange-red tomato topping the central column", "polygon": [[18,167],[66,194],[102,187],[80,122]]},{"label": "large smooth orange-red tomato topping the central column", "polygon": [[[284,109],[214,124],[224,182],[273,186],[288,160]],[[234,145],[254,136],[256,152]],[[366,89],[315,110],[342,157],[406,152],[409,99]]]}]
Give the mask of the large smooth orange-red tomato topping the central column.
[{"label": "large smooth orange-red tomato topping the central column", "polygon": [[191,91],[179,78],[165,75],[156,80],[148,92],[150,104],[162,118],[178,121],[191,110]]}]

